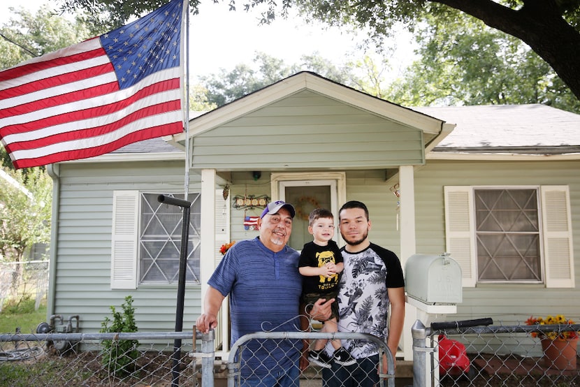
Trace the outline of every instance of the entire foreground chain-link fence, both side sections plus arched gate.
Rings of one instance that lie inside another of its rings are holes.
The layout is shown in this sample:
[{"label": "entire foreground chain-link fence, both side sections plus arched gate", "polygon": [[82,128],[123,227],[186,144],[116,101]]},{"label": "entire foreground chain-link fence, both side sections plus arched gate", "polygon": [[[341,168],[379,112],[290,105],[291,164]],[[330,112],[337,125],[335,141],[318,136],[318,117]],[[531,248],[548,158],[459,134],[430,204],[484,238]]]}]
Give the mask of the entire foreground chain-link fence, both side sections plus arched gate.
[{"label": "entire foreground chain-link fence, both side sections plus arched gate", "polygon": [[[538,338],[531,337],[532,333],[579,330],[580,325],[464,327],[457,321],[426,328],[416,321],[412,329],[413,386],[580,386],[577,349],[573,348],[571,358],[555,360],[544,354]],[[277,372],[287,367],[284,362],[288,359],[264,360],[263,353],[285,348],[290,363],[295,364],[302,340],[333,338],[365,340],[374,343],[379,353],[386,351],[377,337],[357,333],[253,333],[235,342],[224,355],[228,358],[215,353],[213,331],[195,336],[191,332],[10,334],[0,335],[0,386],[233,387],[243,385],[248,376],[270,386],[269,378],[279,377]],[[177,339],[179,347],[175,346]],[[103,353],[105,340],[136,340],[138,344],[111,354]],[[564,355],[565,351],[555,352]],[[256,356],[268,363],[266,372],[244,370]],[[378,361],[363,372],[378,370],[382,379],[377,385],[395,386],[392,361],[388,356],[387,372]],[[338,370],[361,372],[356,366],[321,368],[311,364],[300,373],[299,386],[337,386],[324,384],[323,379]]]}]

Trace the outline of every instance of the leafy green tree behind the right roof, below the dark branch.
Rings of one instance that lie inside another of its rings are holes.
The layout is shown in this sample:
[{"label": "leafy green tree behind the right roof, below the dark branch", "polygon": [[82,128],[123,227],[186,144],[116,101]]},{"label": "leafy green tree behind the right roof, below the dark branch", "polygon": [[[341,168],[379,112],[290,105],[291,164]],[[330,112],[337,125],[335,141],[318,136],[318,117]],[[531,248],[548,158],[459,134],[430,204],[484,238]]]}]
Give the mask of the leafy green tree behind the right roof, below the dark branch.
[{"label": "leafy green tree behind the right roof, below the dark branch", "polygon": [[[403,105],[543,103],[580,112],[580,101],[519,39],[449,13],[416,31],[420,59],[386,93]],[[477,61],[471,52],[477,52]]]}]

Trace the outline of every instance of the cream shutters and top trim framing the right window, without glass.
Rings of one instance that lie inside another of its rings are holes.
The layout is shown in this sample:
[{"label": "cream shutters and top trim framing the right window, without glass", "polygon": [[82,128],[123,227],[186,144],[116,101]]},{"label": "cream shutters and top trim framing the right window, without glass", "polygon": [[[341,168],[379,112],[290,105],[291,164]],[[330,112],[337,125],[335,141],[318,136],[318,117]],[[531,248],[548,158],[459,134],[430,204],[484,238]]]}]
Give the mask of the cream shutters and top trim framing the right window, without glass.
[{"label": "cream shutters and top trim framing the right window, without glass", "polygon": [[[546,288],[574,288],[570,189],[568,186],[534,187],[538,189],[540,198],[538,215],[544,286]],[[477,284],[474,189],[486,188],[490,187],[444,187],[447,252],[461,266],[464,287],[474,287]],[[500,188],[520,189],[522,186]],[[523,188],[529,189],[530,186]]]}]

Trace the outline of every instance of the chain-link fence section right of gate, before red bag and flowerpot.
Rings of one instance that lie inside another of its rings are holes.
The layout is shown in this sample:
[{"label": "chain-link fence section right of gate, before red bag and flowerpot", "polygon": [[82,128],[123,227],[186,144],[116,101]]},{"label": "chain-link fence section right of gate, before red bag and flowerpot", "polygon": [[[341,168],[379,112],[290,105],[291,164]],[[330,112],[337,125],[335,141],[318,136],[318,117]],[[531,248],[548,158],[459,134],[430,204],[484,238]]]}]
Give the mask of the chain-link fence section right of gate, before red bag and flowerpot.
[{"label": "chain-link fence section right of gate, before red bag and flowerpot", "polygon": [[578,332],[579,324],[481,323],[452,321],[426,328],[416,321],[412,328],[414,386],[580,386],[578,340],[533,337]]}]

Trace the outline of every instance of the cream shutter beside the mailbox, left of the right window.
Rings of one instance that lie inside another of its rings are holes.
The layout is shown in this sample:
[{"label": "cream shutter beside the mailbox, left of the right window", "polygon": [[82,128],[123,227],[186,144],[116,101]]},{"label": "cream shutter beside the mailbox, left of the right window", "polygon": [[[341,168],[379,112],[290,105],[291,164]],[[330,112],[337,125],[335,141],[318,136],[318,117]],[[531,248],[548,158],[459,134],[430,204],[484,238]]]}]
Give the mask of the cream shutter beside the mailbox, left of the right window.
[{"label": "cream shutter beside the mailbox, left of the right window", "polygon": [[447,252],[461,267],[463,286],[474,287],[477,280],[477,253],[473,230],[472,187],[444,187],[444,199]]}]

